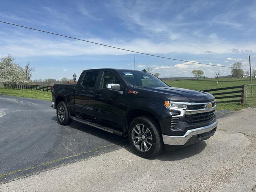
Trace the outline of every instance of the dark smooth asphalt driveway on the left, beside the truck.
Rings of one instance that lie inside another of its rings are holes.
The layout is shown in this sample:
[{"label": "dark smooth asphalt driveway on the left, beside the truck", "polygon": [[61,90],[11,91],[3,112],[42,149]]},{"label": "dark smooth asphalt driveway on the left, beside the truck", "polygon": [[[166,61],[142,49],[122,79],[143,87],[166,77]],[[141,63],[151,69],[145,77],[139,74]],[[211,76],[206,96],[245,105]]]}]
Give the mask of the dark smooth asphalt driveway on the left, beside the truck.
[{"label": "dark smooth asphalt driveway on the left, beside the truck", "polygon": [[78,122],[62,126],[50,105],[0,95],[0,183],[128,144],[123,137]]}]

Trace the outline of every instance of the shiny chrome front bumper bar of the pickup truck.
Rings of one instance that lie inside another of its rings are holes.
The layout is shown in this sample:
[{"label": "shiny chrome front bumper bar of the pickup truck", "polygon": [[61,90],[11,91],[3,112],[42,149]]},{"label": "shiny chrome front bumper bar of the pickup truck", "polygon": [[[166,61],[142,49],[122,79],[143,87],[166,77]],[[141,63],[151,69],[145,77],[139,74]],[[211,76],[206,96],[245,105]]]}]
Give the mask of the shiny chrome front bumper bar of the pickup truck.
[{"label": "shiny chrome front bumper bar of the pickup truck", "polygon": [[164,144],[167,144],[167,145],[184,145],[190,139],[191,136],[202,134],[202,133],[205,133],[205,132],[209,132],[209,131],[213,130],[214,128],[216,128],[217,124],[218,124],[218,122],[215,121],[214,123],[212,123],[208,126],[199,127],[199,128],[195,128],[195,129],[190,129],[183,136],[163,135]]}]

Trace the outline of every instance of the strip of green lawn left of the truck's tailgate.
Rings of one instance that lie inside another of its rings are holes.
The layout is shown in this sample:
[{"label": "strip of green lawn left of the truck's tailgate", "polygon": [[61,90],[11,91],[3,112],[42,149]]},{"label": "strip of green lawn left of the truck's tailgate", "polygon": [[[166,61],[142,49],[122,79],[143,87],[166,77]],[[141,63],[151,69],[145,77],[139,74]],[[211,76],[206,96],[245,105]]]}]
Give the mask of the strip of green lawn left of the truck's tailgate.
[{"label": "strip of green lawn left of the truck's tailgate", "polygon": [[28,89],[12,89],[7,87],[0,87],[0,95],[28,97],[28,98],[42,99],[46,101],[52,100],[51,92],[28,90]]}]

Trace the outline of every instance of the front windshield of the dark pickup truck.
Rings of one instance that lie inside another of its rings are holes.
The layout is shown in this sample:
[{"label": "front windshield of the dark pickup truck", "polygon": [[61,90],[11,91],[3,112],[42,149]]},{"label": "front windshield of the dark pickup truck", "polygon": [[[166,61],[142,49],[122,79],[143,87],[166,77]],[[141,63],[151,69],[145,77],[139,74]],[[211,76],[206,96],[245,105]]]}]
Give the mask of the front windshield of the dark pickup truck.
[{"label": "front windshield of the dark pickup truck", "polygon": [[162,82],[156,76],[147,72],[135,71],[135,78],[134,71],[122,71],[121,75],[128,85],[133,86],[134,84],[134,87],[136,88],[168,87],[167,84]]}]

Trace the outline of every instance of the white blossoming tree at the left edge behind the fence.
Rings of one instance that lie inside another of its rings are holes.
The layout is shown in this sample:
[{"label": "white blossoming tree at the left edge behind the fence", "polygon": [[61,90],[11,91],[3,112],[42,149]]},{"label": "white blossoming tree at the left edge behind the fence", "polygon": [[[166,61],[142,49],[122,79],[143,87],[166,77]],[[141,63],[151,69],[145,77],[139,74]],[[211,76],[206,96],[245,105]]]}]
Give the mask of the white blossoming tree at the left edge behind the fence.
[{"label": "white blossoming tree at the left edge behind the fence", "polygon": [[8,55],[6,58],[1,58],[0,62],[0,82],[4,86],[8,85],[15,89],[17,84],[26,84],[26,74],[24,68],[14,63],[14,58]]}]

